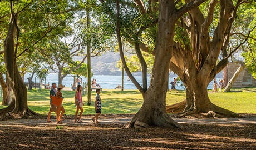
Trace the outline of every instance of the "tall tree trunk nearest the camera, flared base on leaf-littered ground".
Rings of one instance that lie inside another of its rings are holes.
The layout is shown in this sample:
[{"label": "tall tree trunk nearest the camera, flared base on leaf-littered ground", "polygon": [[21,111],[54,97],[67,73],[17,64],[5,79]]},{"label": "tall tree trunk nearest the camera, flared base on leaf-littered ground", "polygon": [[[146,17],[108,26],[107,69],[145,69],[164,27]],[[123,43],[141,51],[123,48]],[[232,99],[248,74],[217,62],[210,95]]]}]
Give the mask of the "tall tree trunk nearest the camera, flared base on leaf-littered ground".
[{"label": "tall tree trunk nearest the camera, flared base on leaf-littered ground", "polygon": [[[195,6],[199,5],[199,3],[194,4]],[[119,13],[118,7],[119,5],[117,5],[117,13]],[[166,113],[166,91],[169,84],[169,64],[171,57],[173,56],[175,24],[178,18],[180,18],[186,11],[189,11],[188,7],[184,7],[184,10],[180,12],[177,11],[174,1],[159,1],[155,61],[150,86],[148,89],[143,88],[144,90],[140,90],[140,88],[138,88],[143,95],[144,102],[139,112],[136,113],[134,118],[132,118],[131,122],[127,124],[126,127],[160,126],[183,128],[183,126],[173,121],[173,119],[171,119],[171,117]],[[121,38],[119,32],[119,24],[117,23],[117,38],[119,40],[119,48],[121,52]],[[124,64],[124,61],[122,62]]]}]

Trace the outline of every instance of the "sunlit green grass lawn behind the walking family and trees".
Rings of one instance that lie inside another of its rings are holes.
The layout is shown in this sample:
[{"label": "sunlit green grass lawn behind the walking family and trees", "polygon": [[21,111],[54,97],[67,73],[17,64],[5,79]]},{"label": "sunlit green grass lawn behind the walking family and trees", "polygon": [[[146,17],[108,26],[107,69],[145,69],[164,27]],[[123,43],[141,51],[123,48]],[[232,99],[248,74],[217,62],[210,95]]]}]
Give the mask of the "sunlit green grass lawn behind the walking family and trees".
[{"label": "sunlit green grass lawn behind the walking family and trees", "polygon": [[[47,114],[50,107],[49,99],[50,89],[28,91],[28,106],[33,111],[40,114]],[[76,111],[74,104],[75,91],[62,91],[65,99],[63,106],[67,115],[73,115]],[[136,113],[142,106],[142,95],[137,90],[105,89],[100,94],[102,99],[102,113],[104,114],[122,114]],[[85,110],[83,114],[95,114],[94,110],[95,91],[92,92],[92,106],[87,106],[87,96],[83,96]],[[186,98],[185,91],[179,91],[178,94],[167,93],[166,104],[175,104]],[[230,93],[211,93],[209,98],[214,104],[229,109],[237,113],[256,113],[256,88],[232,89]],[[2,103],[2,97],[0,97]],[[5,106],[0,106],[4,108]]]}]

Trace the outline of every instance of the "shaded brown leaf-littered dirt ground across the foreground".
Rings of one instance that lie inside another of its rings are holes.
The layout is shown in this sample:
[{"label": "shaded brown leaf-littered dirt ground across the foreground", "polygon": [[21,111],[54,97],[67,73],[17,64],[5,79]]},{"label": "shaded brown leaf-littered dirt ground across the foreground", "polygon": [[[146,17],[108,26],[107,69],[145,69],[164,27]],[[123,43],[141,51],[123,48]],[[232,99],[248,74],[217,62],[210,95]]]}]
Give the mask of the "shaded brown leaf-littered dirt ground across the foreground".
[{"label": "shaded brown leaf-littered dirt ground across the foreground", "polygon": [[255,123],[189,122],[183,123],[185,129],[122,128],[132,116],[102,115],[99,124],[90,120],[92,116],[83,116],[83,123],[73,123],[73,116],[65,116],[61,125],[46,123],[46,116],[0,116],[0,149],[256,149]]}]

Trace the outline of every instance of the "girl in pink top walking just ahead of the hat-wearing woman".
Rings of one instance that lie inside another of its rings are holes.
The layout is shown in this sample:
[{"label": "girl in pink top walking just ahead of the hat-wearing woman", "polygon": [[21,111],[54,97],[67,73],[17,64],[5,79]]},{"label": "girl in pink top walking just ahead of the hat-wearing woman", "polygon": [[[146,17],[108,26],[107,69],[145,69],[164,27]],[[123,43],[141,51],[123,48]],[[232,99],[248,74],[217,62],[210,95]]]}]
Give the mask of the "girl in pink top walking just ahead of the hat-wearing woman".
[{"label": "girl in pink top walking just ahead of the hat-wearing woman", "polygon": [[[82,113],[83,113],[83,107],[82,107],[83,106],[83,100],[82,100],[81,91],[82,91],[82,86],[78,85],[77,88],[76,88],[76,94],[75,94],[76,115],[75,115],[75,121],[74,122],[82,122],[81,121],[81,116],[82,116]],[[79,115],[78,121],[76,121],[79,109],[80,109],[80,115]]]}]

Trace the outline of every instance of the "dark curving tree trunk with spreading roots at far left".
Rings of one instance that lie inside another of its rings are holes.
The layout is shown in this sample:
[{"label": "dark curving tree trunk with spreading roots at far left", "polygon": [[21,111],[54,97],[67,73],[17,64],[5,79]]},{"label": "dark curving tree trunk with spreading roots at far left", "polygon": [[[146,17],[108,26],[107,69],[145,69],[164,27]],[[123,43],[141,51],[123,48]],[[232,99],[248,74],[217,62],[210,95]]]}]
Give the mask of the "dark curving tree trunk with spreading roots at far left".
[{"label": "dark curving tree trunk with spreading roots at far left", "polygon": [[[8,27],[7,37],[4,40],[4,62],[6,64],[7,69],[6,77],[10,80],[11,87],[14,92],[14,101],[12,101],[9,107],[1,109],[0,114],[7,112],[21,112],[23,113],[23,116],[25,116],[26,113],[31,115],[36,113],[31,111],[27,106],[27,88],[22,80],[21,75],[19,74],[16,65],[16,53],[19,34],[19,31],[17,32],[17,18],[17,14],[14,15],[14,13],[12,13]],[[17,38],[15,39],[16,34]],[[14,42],[16,42],[15,45]]]}]

